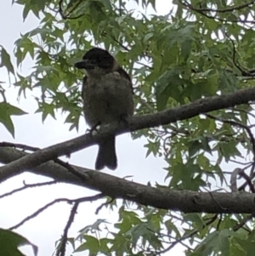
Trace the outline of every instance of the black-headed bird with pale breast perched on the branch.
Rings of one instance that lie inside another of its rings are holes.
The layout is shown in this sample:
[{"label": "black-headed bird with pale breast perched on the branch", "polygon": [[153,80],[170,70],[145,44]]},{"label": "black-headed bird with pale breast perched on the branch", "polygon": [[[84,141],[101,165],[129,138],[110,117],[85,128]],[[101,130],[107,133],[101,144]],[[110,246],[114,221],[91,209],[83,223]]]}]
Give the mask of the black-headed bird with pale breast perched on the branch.
[{"label": "black-headed bird with pale breast perched on the branch", "polygon": [[[133,116],[131,77],[116,59],[103,48],[91,48],[75,64],[87,73],[82,82],[83,113],[88,126],[94,129],[112,122],[125,122]],[[115,136],[99,141],[95,169],[117,167]]]}]

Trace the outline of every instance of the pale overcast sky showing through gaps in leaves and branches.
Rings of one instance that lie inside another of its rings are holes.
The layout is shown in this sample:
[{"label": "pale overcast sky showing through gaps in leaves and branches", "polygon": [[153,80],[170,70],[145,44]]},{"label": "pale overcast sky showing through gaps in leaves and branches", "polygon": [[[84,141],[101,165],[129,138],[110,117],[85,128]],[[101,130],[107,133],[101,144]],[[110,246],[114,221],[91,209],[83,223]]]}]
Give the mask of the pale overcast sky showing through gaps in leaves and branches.
[{"label": "pale overcast sky showing through gaps in leaves and branches", "polygon": [[[15,4],[11,6],[11,0],[0,1],[0,45],[8,50],[8,53],[13,53],[14,41],[20,37],[20,33],[25,33],[35,28],[38,25],[38,20],[30,15],[25,23],[22,21],[22,8]],[[163,9],[166,7],[166,1],[157,0],[158,10],[163,14]],[[12,56],[14,63],[14,57]],[[32,65],[31,60],[26,60],[22,65],[20,73],[25,75],[30,72]],[[27,95],[27,98],[21,98],[17,101],[18,90],[14,89],[8,82],[8,76],[4,68],[0,68],[0,81],[5,82],[7,90],[8,102],[12,105],[20,107],[29,114],[21,117],[14,117],[15,139],[12,138],[8,131],[0,123],[1,141],[14,143],[22,143],[37,147],[47,147],[67,139],[75,138],[81,135],[85,129],[85,122],[81,119],[80,130],[77,133],[75,130],[69,131],[69,125],[64,124],[65,118],[57,115],[57,120],[48,117],[42,124],[41,114],[34,114],[37,109],[37,103],[33,100],[35,93]],[[2,99],[1,99],[2,100]],[[116,152],[118,157],[118,168],[115,172],[104,170],[105,173],[115,175],[117,177],[125,177],[133,175],[133,181],[146,184],[154,181],[162,184],[165,177],[165,171],[162,169],[166,164],[154,156],[145,158],[146,150],[144,149],[145,139],[132,140],[130,134],[118,136],[116,139]],[[128,151],[128,153],[127,153]],[[85,168],[94,168],[94,161],[97,154],[97,146],[79,151],[71,155],[68,161]],[[38,183],[48,180],[42,176],[34,174],[21,174],[9,179],[1,184],[0,195],[7,191],[12,191],[15,188],[22,186],[22,182],[27,184]],[[74,185],[52,185],[43,188],[30,189],[14,196],[8,196],[0,200],[1,218],[0,227],[8,228],[26,218],[27,215],[33,213],[38,208],[41,208],[55,198],[67,197],[77,198],[80,196],[89,196],[95,194],[94,191],[77,187]],[[94,211],[101,202],[86,203],[78,209],[75,222],[69,232],[70,236],[77,236],[77,231],[82,227],[92,224],[96,219],[105,219],[110,211],[101,210],[99,215],[95,215]],[[71,206],[66,203],[59,203],[52,208],[41,213],[37,218],[31,219],[26,224],[22,225],[17,231],[28,240],[39,247],[39,256],[51,255],[54,252],[54,243],[63,234],[66,221],[70,213]],[[111,213],[110,221],[116,221],[116,214]],[[176,247],[175,250],[177,250]],[[21,249],[27,255],[32,255],[31,248],[23,247]],[[179,256],[183,248],[178,251],[171,251],[173,254],[178,252]],[[70,251],[69,251],[70,252]]]}]

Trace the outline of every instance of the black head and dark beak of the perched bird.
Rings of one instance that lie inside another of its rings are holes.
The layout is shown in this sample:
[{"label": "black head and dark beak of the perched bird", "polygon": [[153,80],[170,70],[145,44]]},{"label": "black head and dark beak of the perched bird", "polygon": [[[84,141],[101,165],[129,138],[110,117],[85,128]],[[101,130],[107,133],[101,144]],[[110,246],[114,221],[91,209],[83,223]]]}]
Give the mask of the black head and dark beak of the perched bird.
[{"label": "black head and dark beak of the perched bird", "polygon": [[96,69],[103,69],[111,71],[115,65],[116,60],[105,49],[92,48],[79,61],[75,67],[85,69],[88,72]]}]

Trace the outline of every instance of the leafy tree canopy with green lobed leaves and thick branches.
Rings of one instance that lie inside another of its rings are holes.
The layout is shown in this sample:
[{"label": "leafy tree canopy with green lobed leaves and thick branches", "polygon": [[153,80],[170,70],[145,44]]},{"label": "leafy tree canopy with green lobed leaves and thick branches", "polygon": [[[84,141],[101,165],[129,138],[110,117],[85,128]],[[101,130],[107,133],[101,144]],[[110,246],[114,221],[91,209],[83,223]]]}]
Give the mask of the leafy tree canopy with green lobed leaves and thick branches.
[{"label": "leafy tree canopy with green lobed leaves and thick branches", "polygon": [[[82,72],[74,64],[93,46],[109,50],[133,80],[135,116],[127,123],[42,150],[0,144],[1,181],[29,169],[96,191],[67,201],[73,207],[57,255],[65,255],[69,243],[74,253],[89,255],[163,255],[177,244],[190,256],[253,255],[255,1],[175,0],[164,15],[157,13],[165,4],[159,0],[13,3],[23,6],[25,22],[33,14],[40,25],[17,38],[16,63],[1,46],[0,67],[19,97],[39,92],[42,122],[62,111],[70,129],[79,128]],[[25,76],[20,65],[28,57],[34,66]],[[12,116],[26,112],[9,104],[2,82],[0,122],[14,136]],[[164,184],[141,185],[58,159],[107,134],[127,132],[146,138],[147,156],[164,159]],[[119,221],[113,226],[98,219],[77,239],[68,236],[79,204],[99,198],[105,198],[101,208],[116,211]],[[31,243],[17,237],[0,230],[0,247],[9,244],[6,250],[20,255],[16,247]]]}]

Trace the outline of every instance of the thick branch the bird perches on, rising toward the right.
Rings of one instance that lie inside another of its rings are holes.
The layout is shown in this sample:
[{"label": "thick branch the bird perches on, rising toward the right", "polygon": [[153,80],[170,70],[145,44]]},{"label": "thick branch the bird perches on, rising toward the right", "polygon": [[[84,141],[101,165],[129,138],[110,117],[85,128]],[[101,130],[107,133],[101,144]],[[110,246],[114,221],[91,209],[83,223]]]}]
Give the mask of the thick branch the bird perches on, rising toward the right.
[{"label": "thick branch the bird perches on, rising toward the right", "polygon": [[195,117],[201,113],[246,104],[252,100],[255,100],[255,88],[248,88],[233,94],[195,100],[191,104],[182,105],[175,109],[161,111],[156,114],[132,117],[128,120],[127,124],[115,123],[107,125],[102,127],[100,132],[94,136],[91,134],[82,135],[76,139],[71,139],[57,145],[49,146],[41,151],[36,151],[31,155],[24,156],[14,162],[10,162],[8,165],[0,168],[0,181],[8,179],[16,174],[20,174],[26,169],[34,168],[43,162],[55,159],[58,156],[70,155],[72,152],[80,151],[89,145],[94,145],[109,134],[124,134],[128,131],[152,128],[168,124],[170,122]]}]

